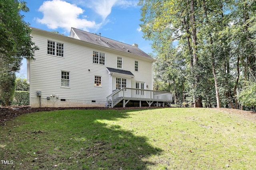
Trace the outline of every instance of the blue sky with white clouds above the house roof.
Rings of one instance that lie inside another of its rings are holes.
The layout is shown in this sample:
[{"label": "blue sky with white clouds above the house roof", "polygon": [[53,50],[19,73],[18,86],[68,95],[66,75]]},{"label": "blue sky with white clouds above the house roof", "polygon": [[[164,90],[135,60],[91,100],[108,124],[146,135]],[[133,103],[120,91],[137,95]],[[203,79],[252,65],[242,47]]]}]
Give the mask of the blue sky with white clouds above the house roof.
[{"label": "blue sky with white clouds above the house roof", "polygon": [[[152,53],[150,41],[142,38],[138,0],[25,0],[29,12],[22,12],[31,27],[70,35],[71,27],[126,44],[138,44]],[[26,78],[26,60],[20,74]]]}]

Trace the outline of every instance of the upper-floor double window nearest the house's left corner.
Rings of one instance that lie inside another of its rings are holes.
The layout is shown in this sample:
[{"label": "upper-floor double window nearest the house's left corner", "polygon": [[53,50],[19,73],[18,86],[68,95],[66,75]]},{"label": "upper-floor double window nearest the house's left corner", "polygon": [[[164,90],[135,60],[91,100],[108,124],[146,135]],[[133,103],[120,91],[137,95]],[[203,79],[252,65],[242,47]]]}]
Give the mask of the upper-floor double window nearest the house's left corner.
[{"label": "upper-floor double window nearest the house's left corner", "polygon": [[47,41],[47,54],[64,57],[64,44],[55,41]]}]

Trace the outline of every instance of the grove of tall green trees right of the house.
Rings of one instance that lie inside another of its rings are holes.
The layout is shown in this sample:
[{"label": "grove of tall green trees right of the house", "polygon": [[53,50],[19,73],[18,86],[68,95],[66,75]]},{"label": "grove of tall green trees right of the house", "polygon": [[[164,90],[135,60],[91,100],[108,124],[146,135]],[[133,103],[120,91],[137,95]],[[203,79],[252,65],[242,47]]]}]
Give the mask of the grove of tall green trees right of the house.
[{"label": "grove of tall green trees right of the house", "polygon": [[[162,56],[158,63],[165,76],[158,80],[184,76],[186,98],[197,106],[202,101],[205,107],[238,108],[242,80],[256,77],[256,1],[140,0],[139,5],[144,38]],[[177,54],[183,72],[175,69]]]}]

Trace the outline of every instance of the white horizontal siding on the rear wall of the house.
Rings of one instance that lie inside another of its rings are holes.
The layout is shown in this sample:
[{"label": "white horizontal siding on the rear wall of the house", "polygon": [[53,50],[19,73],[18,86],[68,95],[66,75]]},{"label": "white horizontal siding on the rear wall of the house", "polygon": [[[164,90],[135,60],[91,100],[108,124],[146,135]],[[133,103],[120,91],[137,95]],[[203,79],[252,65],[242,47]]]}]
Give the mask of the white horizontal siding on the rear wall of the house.
[{"label": "white horizontal siding on the rear wall of the house", "polygon": [[[123,58],[122,69],[135,76],[127,78],[127,87],[135,88],[135,82],[140,81],[145,82],[145,87],[148,85],[147,90],[152,90],[152,61],[148,59],[45,31],[33,30],[32,37],[40,50],[36,51],[35,60],[30,59],[28,68],[31,107],[39,107],[39,100],[41,107],[104,106],[106,96],[116,88],[116,76],[109,75],[106,67],[117,68],[117,57]],[[64,43],[64,57],[48,55],[47,40]],[[105,65],[92,63],[93,51],[105,53]],[[139,63],[138,72],[134,71],[134,61]],[[70,72],[70,88],[61,87],[61,71]],[[94,86],[94,76],[102,77],[102,87]],[[41,99],[36,96],[36,91],[42,92]],[[53,94],[58,98],[51,97]],[[47,97],[50,100],[46,100]],[[60,99],[66,101],[60,102]]]}]

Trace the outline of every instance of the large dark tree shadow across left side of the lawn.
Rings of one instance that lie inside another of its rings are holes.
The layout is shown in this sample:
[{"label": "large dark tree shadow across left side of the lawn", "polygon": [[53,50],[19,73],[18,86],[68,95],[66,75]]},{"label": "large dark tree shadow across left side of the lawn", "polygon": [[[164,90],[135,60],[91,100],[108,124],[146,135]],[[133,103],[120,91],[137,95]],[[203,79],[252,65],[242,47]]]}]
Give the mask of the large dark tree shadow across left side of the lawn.
[{"label": "large dark tree shadow across left side of the lawn", "polygon": [[20,121],[24,130],[15,131],[18,138],[13,136],[18,141],[26,135],[26,143],[14,141],[8,146],[20,151],[6,154],[15,164],[5,169],[146,170],[154,165],[148,158],[162,152],[147,137],[118,124],[130,116],[126,110],[62,110],[26,116],[30,123]]}]

